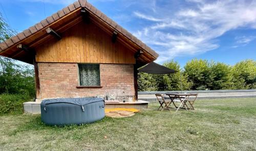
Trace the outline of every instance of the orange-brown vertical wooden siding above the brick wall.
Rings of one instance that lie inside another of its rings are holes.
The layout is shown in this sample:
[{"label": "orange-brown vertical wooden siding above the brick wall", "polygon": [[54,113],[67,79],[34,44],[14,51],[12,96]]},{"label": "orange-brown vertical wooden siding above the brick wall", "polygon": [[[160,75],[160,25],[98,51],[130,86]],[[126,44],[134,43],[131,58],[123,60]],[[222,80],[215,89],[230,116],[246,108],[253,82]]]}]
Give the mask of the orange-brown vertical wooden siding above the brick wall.
[{"label": "orange-brown vertical wooden siding above the brick wall", "polygon": [[95,24],[80,22],[36,47],[36,62],[135,64],[134,52]]}]

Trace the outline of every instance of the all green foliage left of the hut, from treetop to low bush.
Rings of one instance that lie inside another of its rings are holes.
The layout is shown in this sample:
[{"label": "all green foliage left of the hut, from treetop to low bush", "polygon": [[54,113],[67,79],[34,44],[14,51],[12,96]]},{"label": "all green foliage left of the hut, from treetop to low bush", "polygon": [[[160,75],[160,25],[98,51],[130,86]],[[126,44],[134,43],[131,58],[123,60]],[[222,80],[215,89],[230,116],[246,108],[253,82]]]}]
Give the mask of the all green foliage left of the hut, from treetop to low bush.
[{"label": "all green foliage left of the hut, from treetop to low bush", "polygon": [[[0,13],[0,42],[16,32],[10,29]],[[23,103],[35,96],[32,66],[0,56],[0,114],[22,113]]]}]

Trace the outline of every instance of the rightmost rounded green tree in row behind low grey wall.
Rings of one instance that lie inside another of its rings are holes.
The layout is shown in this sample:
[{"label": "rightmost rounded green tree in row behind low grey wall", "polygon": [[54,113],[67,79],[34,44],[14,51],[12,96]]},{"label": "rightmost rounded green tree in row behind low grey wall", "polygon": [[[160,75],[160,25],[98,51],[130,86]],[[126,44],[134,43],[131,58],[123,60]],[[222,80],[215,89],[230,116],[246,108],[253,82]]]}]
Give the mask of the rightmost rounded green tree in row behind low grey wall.
[{"label": "rightmost rounded green tree in row behind low grey wall", "polygon": [[256,89],[256,61],[240,61],[232,68],[233,89]]}]

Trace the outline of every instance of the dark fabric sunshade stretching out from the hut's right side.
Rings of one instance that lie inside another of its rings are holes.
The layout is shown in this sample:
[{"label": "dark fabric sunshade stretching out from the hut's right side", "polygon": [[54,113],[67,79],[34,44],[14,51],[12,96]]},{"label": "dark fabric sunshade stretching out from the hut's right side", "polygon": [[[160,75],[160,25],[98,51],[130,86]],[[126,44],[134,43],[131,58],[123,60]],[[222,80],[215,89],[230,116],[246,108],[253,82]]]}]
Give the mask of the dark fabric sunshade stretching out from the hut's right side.
[{"label": "dark fabric sunshade stretching out from the hut's right side", "polygon": [[169,73],[177,72],[173,69],[169,69],[155,62],[148,63],[144,67],[138,69],[138,71],[144,72],[144,73],[151,73],[151,74],[169,74]]}]

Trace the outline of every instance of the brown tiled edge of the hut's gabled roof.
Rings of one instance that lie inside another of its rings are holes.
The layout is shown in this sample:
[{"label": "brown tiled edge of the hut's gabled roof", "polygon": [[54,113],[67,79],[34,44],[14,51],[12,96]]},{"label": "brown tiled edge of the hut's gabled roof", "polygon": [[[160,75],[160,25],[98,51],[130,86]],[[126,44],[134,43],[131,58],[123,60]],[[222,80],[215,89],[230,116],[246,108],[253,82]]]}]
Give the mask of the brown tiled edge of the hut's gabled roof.
[{"label": "brown tiled edge of the hut's gabled roof", "polygon": [[19,42],[22,42],[22,40],[24,40],[26,38],[30,38],[31,35],[36,34],[38,31],[49,26],[49,24],[58,21],[60,18],[65,17],[66,15],[70,14],[71,12],[73,12],[74,10],[79,9],[79,8],[84,8],[84,9],[88,10],[90,13],[99,17],[106,24],[108,24],[108,26],[112,27],[118,33],[122,34],[127,39],[129,39],[133,43],[137,44],[139,47],[141,47],[143,49],[143,51],[145,51],[146,53],[151,55],[153,58],[156,59],[158,57],[158,54],[153,49],[148,47],[146,44],[144,44],[138,38],[133,36],[131,33],[127,32],[125,29],[123,29],[121,26],[119,26],[119,24],[117,24],[115,21],[113,21],[111,18],[109,18],[105,14],[103,14],[100,10],[96,9],[94,6],[92,6],[86,0],[76,1],[73,4],[69,5],[68,7],[63,8],[62,10],[58,11],[57,13],[54,13],[52,16],[49,16],[46,19],[41,20],[40,22],[36,23],[34,26],[30,27],[29,29],[26,29],[23,32],[18,33],[16,36],[13,36],[10,39],[7,39],[5,42],[0,43],[0,55],[2,55],[2,53],[4,51],[6,51],[8,48],[12,47],[13,45],[17,45],[17,44],[19,44]]}]

